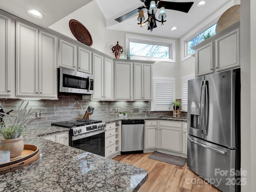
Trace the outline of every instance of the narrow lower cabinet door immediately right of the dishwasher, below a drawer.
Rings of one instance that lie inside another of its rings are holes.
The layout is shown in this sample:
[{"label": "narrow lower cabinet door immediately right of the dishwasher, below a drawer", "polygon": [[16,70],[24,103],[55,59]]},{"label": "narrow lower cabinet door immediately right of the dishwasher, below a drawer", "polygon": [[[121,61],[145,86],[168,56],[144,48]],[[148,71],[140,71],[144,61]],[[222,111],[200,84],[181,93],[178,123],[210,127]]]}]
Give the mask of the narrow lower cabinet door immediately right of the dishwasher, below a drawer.
[{"label": "narrow lower cabinet door immediately right of the dishwasher, below a drawer", "polygon": [[145,127],[145,149],[157,148],[157,126]]}]

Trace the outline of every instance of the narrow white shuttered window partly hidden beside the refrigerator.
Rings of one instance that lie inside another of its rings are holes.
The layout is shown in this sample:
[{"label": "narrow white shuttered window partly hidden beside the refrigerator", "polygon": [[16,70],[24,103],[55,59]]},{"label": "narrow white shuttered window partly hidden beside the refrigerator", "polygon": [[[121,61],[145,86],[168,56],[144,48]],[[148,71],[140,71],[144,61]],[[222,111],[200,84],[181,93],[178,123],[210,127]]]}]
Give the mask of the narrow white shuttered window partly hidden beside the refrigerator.
[{"label": "narrow white shuttered window partly hidden beside the refrigerator", "polygon": [[181,78],[181,108],[182,111],[188,111],[188,80],[194,79],[195,74],[184,76]]}]

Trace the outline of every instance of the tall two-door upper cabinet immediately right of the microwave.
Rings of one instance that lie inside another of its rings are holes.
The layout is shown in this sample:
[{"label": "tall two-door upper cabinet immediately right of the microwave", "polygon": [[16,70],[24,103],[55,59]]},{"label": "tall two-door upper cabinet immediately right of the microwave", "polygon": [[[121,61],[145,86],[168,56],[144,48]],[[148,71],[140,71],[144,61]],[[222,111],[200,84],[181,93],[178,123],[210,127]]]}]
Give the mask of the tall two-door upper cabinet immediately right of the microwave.
[{"label": "tall two-door upper cabinet immediately right of the microwave", "polygon": [[94,75],[92,100],[112,100],[113,62],[98,54],[93,54],[92,74]]}]

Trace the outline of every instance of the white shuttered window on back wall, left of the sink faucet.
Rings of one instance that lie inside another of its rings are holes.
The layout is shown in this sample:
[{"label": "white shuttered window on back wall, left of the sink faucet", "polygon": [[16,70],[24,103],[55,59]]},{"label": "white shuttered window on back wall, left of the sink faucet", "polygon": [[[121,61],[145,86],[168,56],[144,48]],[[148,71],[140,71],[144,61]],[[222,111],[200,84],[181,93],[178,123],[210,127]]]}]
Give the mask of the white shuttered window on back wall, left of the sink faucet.
[{"label": "white shuttered window on back wall, left of the sink faucet", "polygon": [[154,98],[151,102],[152,111],[168,111],[169,105],[175,100],[175,78],[153,78]]}]

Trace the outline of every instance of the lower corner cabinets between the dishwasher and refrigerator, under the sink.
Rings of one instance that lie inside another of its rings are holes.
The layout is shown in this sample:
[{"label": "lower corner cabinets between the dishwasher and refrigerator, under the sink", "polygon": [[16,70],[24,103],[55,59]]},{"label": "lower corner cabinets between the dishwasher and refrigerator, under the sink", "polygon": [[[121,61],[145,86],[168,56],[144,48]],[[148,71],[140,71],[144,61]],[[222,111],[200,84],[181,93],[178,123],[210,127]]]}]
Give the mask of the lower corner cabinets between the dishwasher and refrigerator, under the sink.
[{"label": "lower corner cabinets between the dishwasher and refrigerator, under the sink", "polygon": [[145,150],[187,154],[187,122],[145,120]]}]

